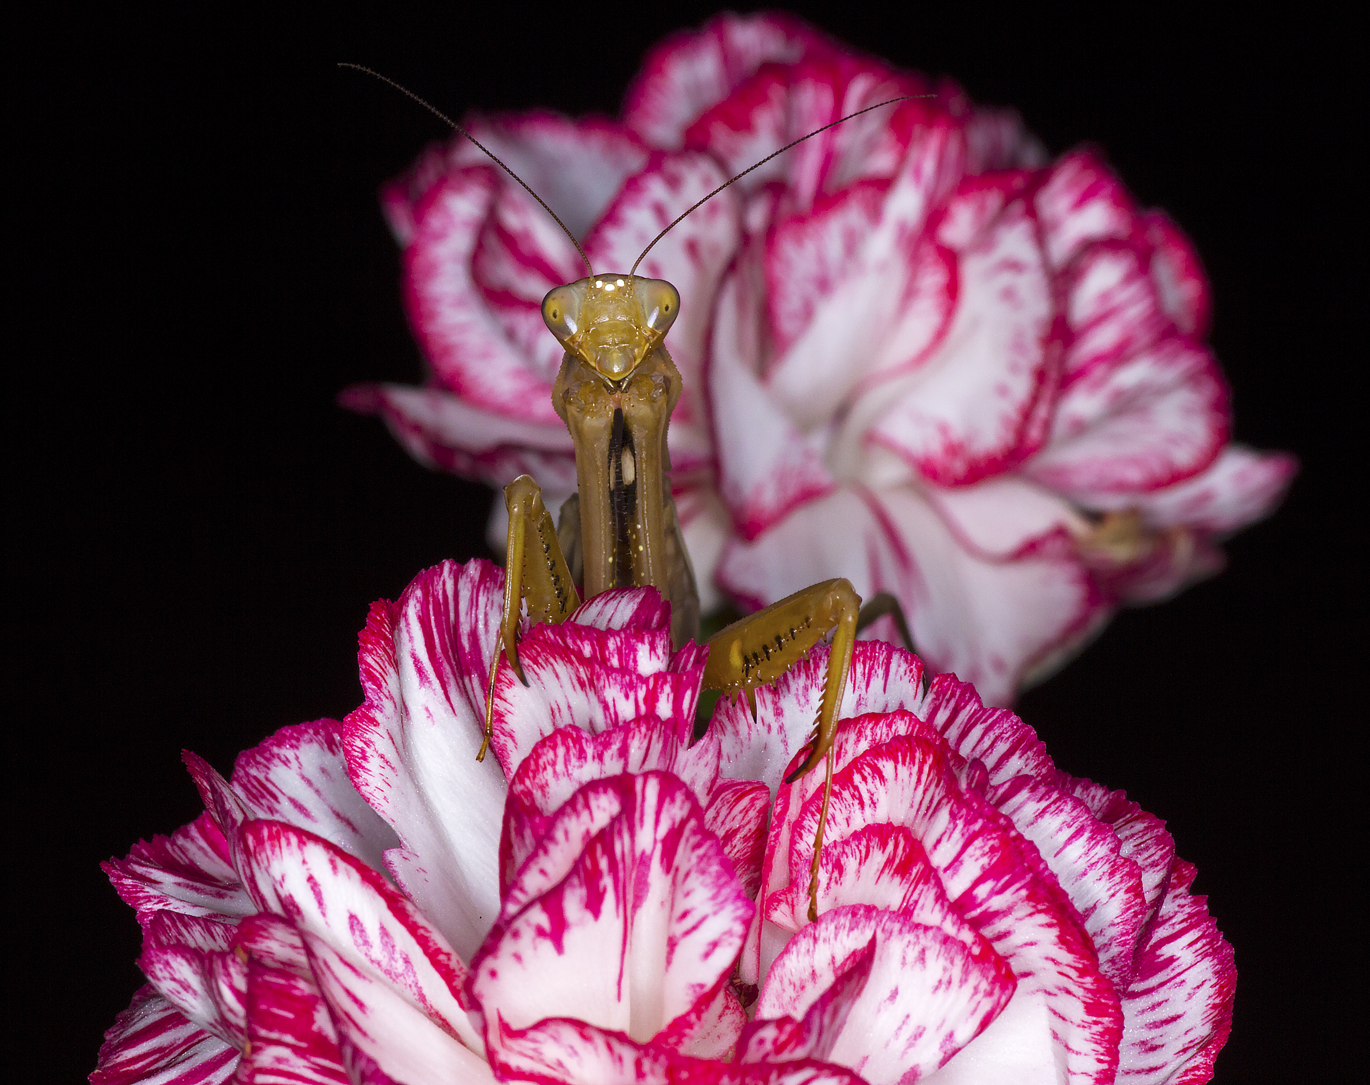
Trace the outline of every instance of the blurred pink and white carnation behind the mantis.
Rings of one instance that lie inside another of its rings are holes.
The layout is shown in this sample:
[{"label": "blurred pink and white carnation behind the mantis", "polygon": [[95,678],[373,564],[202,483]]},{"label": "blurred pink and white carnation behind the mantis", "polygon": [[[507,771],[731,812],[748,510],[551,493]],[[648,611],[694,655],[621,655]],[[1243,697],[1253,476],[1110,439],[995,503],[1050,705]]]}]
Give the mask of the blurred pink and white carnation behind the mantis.
[{"label": "blurred pink and white carnation behind the mantis", "polygon": [[[467,123],[622,271],[729,175],[900,95],[932,97],[800,144],[644,260],[682,297],[671,488],[704,612],[844,575],[900,600],[934,670],[1007,703],[1121,604],[1217,571],[1295,471],[1230,441],[1175,225],[1096,153],[1048,162],[1015,114],[780,15],[667,40],[619,121]],[[555,508],[575,473],[540,303],[584,274],[575,249],[460,138],[382,201],[430,378],[344,401],[429,466],[532,473]]]}]

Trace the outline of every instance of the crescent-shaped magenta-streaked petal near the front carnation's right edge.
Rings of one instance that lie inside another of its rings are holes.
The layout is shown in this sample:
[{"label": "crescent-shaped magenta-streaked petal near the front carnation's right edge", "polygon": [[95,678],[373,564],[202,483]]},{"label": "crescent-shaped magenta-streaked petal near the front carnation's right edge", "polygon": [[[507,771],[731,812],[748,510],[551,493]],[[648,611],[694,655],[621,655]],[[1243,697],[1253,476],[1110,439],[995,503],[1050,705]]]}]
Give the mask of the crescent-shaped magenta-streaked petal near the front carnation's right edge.
[{"label": "crescent-shaped magenta-streaked petal near the front carnation's right edge", "polygon": [[1099,970],[1117,990],[1125,990],[1147,921],[1147,897],[1141,869],[1122,853],[1118,834],[1080,799],[1032,777],[1010,780],[989,800],[1037,847],[1080,912],[1099,952]]}]

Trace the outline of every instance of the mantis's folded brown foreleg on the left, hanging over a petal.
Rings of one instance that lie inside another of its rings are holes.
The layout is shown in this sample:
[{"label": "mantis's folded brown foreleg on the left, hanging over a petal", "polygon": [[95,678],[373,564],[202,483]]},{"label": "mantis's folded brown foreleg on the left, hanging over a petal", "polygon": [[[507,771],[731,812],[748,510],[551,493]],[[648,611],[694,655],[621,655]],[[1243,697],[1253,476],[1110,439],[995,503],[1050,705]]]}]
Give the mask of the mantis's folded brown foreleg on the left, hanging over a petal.
[{"label": "mantis's folded brown foreleg on the left, hanging over a petal", "polygon": [[543,489],[529,475],[519,475],[504,488],[504,504],[510,511],[508,556],[504,562],[504,611],[500,616],[500,636],[495,641],[490,660],[490,686],[485,697],[485,741],[475,755],[485,760],[493,730],[495,674],[503,648],[518,679],[527,685],[518,662],[518,623],[527,603],[527,616],[534,625],[562,623],[581,599],[571,581],[571,571],[562,556],[562,547],[552,525],[552,514],[543,504]]}]

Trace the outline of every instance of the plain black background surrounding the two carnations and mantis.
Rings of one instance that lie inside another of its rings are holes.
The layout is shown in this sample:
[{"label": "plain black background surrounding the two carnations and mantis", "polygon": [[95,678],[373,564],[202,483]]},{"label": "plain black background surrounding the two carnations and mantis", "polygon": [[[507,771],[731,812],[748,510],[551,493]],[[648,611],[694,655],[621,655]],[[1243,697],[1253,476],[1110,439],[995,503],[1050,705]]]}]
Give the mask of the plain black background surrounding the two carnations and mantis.
[{"label": "plain black background surrounding the two carnations and mantis", "polygon": [[[333,63],[458,114],[615,112],[643,49],[710,14],[489,8],[49,12],[12,38],[8,941],[32,975],[10,984],[7,1062],[27,1080],[84,1077],[141,982],[97,863],[199,811],[181,748],[227,771],[282,725],[341,716],[367,604],[485,553],[488,490],[333,401],[421,374],[375,190],[443,136]],[[808,14],[1017,105],[1052,152],[1101,145],[1203,255],[1237,437],[1303,473],[1228,573],[1123,614],[1019,710],[1197,863],[1240,973],[1217,1080],[1336,1080],[1365,960],[1355,36],[1310,8]]]}]

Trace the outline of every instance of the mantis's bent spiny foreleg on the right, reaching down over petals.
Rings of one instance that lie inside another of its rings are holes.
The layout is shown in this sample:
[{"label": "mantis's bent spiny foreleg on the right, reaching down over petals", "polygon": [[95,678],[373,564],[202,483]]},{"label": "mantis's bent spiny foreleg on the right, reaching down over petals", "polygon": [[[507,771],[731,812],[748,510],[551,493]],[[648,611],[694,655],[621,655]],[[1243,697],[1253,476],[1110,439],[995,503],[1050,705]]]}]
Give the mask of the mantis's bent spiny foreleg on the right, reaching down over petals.
[{"label": "mantis's bent spiny foreleg on the right, reaching down over petals", "polygon": [[856,644],[856,616],[860,596],[845,579],[815,584],[796,592],[780,603],[773,603],[756,614],[719,630],[708,641],[708,663],[704,667],[704,686],[725,693],[745,692],[756,708],[752,690],[773,682],[793,667],[810,648],[829,630],[833,647],[827,653],[827,675],[823,681],[823,700],[818,710],[808,756],[786,784],[812,771],[827,758],[823,780],[823,806],[818,815],[814,838],[814,866],[808,878],[808,918],[818,919],[818,864],[823,848],[823,829],[827,825],[827,799],[833,789],[833,738],[837,733],[837,712],[847,688],[852,648]]}]

